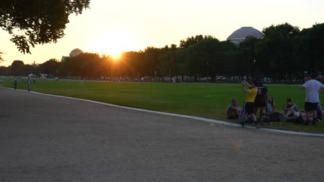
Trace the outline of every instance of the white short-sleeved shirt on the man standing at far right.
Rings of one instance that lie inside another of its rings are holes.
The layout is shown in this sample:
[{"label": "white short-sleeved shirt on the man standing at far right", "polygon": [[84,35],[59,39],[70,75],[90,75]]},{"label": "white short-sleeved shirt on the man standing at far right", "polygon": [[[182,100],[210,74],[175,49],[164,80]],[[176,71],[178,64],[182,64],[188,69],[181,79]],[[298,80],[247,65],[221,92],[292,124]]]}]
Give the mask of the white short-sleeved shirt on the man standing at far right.
[{"label": "white short-sleeved shirt on the man standing at far right", "polygon": [[304,83],[303,88],[306,88],[306,99],[305,102],[310,102],[310,103],[319,103],[319,96],[318,96],[318,91],[321,88],[324,88],[324,85],[314,79],[311,79]]}]

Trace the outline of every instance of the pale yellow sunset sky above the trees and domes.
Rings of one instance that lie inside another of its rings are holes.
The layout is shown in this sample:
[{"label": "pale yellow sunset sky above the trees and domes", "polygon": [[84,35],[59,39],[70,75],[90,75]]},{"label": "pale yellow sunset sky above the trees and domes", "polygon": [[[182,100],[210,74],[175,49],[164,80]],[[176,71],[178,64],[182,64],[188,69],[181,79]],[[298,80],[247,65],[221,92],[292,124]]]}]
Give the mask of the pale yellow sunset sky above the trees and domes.
[{"label": "pale yellow sunset sky above the trees and domes", "polygon": [[69,17],[62,39],[36,45],[32,54],[19,52],[10,34],[0,30],[0,50],[5,53],[0,65],[60,60],[75,48],[115,55],[179,45],[181,39],[197,34],[224,41],[243,26],[262,30],[287,22],[303,29],[324,23],[324,1],[318,0],[91,0],[90,7]]}]

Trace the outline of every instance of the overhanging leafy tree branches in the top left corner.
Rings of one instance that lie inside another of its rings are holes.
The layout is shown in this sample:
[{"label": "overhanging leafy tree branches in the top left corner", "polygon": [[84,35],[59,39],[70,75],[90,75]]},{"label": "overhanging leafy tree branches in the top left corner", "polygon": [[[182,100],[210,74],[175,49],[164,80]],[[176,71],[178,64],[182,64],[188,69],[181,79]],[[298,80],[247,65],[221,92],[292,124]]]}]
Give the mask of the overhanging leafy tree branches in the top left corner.
[{"label": "overhanging leafy tree branches in the top left corner", "polygon": [[19,51],[56,42],[64,36],[70,14],[81,14],[90,0],[1,0],[0,27],[12,35]]}]

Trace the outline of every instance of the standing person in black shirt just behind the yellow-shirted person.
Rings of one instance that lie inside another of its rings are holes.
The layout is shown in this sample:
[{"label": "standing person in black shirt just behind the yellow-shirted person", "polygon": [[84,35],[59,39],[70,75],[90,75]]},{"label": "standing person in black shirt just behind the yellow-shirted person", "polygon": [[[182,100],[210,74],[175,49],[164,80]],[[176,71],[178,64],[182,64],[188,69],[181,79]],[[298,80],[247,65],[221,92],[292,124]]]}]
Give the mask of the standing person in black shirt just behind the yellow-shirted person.
[{"label": "standing person in black shirt just behind the yellow-shirted person", "polygon": [[264,114],[266,113],[267,101],[268,101],[268,89],[260,81],[255,81],[255,85],[258,88],[258,93],[255,97],[255,114],[258,114],[260,110],[260,121],[263,121]]}]

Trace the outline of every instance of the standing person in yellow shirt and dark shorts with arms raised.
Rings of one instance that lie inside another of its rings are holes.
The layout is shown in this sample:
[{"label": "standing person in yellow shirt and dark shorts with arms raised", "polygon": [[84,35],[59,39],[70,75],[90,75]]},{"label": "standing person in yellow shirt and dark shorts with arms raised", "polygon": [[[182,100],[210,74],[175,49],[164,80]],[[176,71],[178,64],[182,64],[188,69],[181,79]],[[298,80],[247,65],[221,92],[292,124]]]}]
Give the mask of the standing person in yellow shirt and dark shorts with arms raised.
[{"label": "standing person in yellow shirt and dark shorts with arms raised", "polygon": [[[246,81],[242,81],[243,90],[246,93],[246,100],[244,103],[244,117],[242,121],[242,126],[244,126],[246,119],[251,115],[251,119],[254,121],[255,127],[260,128],[258,125],[257,119],[255,117],[255,105],[254,100],[256,95],[258,94],[258,88],[255,87],[255,83],[249,84]],[[249,89],[247,89],[247,88]]]}]

